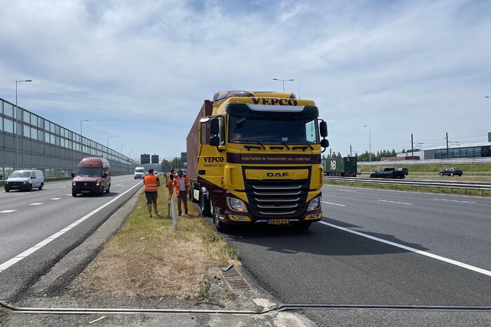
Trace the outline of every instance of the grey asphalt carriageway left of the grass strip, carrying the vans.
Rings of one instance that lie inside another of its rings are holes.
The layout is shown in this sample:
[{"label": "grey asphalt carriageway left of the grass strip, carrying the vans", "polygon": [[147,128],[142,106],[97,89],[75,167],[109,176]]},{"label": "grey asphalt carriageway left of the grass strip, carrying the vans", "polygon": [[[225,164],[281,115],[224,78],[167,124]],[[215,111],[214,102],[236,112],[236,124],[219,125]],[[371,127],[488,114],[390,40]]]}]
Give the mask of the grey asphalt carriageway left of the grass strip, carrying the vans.
[{"label": "grey asphalt carriageway left of the grass strip, carrying the vans", "polygon": [[31,192],[0,190],[1,299],[15,298],[142,186],[133,175],[113,176],[110,193],[72,197],[71,183],[48,183]]}]

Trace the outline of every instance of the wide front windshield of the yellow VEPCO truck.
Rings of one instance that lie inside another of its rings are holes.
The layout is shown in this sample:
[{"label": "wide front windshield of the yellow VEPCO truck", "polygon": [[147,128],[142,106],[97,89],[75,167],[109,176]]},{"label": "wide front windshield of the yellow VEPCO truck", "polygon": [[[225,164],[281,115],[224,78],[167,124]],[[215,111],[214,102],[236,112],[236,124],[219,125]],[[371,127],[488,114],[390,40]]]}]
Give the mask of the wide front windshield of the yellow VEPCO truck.
[{"label": "wide front windshield of the yellow VEPCO truck", "polygon": [[319,143],[316,119],[250,118],[230,116],[231,143]]}]

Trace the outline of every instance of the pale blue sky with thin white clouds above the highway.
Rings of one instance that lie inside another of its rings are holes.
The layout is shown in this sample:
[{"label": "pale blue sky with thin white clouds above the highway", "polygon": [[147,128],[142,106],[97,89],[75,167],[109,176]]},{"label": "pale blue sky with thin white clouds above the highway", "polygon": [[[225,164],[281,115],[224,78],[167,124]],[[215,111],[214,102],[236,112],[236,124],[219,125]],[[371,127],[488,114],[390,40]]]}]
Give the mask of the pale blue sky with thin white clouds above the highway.
[{"label": "pale blue sky with thin white clouds above the highway", "polygon": [[347,155],[491,132],[491,1],[0,0],[0,97],[132,157],[186,151],[204,99],[312,99]]}]

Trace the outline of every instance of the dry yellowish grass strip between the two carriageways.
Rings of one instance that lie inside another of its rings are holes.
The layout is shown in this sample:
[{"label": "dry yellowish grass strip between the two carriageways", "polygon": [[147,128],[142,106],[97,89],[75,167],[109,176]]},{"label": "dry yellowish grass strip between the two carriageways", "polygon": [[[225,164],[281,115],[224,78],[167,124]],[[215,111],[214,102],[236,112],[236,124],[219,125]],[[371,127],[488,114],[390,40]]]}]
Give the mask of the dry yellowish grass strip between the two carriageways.
[{"label": "dry yellowish grass strip between the two carriageways", "polygon": [[[168,192],[159,188],[161,216],[148,217],[144,194],[121,229],[74,282],[74,290],[116,297],[206,298],[218,267],[240,265],[221,236],[189,204],[173,230]],[[164,218],[165,217],[165,218]]]}]

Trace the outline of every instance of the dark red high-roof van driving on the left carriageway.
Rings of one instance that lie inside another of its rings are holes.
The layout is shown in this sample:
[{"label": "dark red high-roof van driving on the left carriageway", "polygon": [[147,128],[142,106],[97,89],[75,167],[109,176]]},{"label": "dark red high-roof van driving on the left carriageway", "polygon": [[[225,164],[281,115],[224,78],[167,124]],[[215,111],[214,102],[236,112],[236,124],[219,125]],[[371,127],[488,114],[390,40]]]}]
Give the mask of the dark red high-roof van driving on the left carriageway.
[{"label": "dark red high-roof van driving on the left carriageway", "polygon": [[105,158],[83,158],[76,173],[72,174],[72,196],[77,194],[109,193],[111,188],[111,167]]}]

